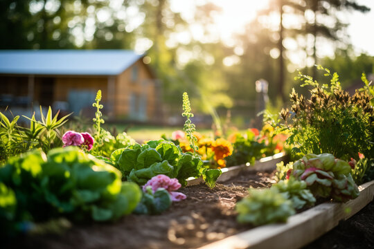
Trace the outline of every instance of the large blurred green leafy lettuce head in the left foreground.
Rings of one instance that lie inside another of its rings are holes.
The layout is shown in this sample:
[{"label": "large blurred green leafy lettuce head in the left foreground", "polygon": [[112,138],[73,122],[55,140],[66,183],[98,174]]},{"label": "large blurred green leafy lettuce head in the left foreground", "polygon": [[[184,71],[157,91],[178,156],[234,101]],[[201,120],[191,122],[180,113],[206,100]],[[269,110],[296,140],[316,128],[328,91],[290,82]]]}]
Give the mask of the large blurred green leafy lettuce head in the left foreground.
[{"label": "large blurred green leafy lettuce head in the left foreground", "polygon": [[0,190],[1,229],[8,232],[21,232],[25,221],[58,216],[114,220],[130,214],[141,199],[139,186],[122,183],[117,169],[75,147],[10,158],[0,167]]}]

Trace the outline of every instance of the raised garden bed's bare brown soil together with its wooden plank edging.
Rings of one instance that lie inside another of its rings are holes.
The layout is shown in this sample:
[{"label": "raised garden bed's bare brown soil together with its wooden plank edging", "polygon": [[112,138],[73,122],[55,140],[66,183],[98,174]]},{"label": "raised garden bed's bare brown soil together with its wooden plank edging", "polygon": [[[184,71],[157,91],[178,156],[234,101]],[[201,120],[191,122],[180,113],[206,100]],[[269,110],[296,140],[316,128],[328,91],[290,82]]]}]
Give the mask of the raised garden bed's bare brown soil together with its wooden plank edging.
[{"label": "raised garden bed's bare brown soil together with its wooden plank edging", "polygon": [[221,178],[213,190],[202,183],[190,185],[181,190],[188,199],[173,203],[172,208],[162,215],[130,215],[116,223],[75,224],[64,234],[24,237],[8,246],[83,249],[199,248],[206,245],[202,248],[271,248],[276,244],[278,248],[300,248],[373,200],[374,181],[371,181],[359,186],[357,199],[347,203],[322,203],[290,217],[285,224],[258,228],[238,224],[235,203],[247,195],[248,187],[269,187],[275,163],[282,158],[278,155],[252,167],[240,165],[229,168],[222,174],[223,179],[229,180]]}]

